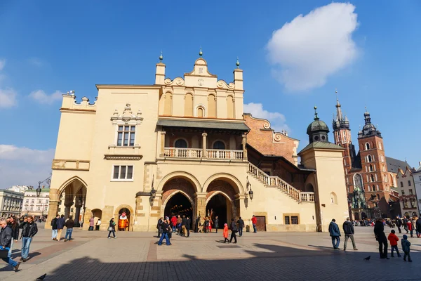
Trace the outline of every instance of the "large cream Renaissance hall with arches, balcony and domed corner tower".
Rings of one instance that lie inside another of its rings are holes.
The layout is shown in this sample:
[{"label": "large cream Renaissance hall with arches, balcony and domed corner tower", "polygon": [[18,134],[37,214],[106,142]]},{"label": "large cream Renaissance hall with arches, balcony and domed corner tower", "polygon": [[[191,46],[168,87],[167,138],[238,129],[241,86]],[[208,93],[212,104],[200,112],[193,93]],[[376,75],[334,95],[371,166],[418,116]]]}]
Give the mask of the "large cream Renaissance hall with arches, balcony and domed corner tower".
[{"label": "large cream Renaissance hall with arches, balcony and domed corner tower", "polygon": [[297,153],[298,140],[243,112],[238,61],[233,73],[218,79],[199,53],[192,72],[170,79],[161,56],[152,85],[96,85],[94,103],[63,95],[48,218],[64,192],[65,216],[74,209],[83,229],[94,216],[107,230],[123,212],[129,231],[156,231],[171,214],[219,216],[220,226],[241,216],[248,227],[255,215],[267,231],[343,221],[343,148],[326,124],[316,114]]}]

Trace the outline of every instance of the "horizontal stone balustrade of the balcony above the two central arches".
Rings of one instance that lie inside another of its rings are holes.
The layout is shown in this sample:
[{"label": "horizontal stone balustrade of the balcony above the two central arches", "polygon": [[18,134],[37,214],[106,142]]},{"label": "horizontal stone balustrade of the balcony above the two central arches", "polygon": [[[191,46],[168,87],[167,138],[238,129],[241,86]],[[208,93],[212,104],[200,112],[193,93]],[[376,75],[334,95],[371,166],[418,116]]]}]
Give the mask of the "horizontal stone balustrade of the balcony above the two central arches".
[{"label": "horizontal stone balustrade of the balcony above the two central arches", "polygon": [[203,153],[201,148],[163,148],[166,158],[243,160],[243,156],[243,150],[206,149]]}]

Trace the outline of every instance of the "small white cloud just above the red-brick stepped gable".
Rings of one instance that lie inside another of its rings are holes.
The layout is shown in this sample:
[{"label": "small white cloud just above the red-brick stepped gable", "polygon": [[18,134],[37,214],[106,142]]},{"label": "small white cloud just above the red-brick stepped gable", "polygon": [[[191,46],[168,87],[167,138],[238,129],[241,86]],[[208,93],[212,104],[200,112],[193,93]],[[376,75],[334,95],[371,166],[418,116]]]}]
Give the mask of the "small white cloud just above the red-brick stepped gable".
[{"label": "small white cloud just above the red-brick stepped gable", "polygon": [[244,112],[250,113],[255,118],[267,119],[271,128],[275,131],[285,130],[290,133],[290,128],[286,124],[286,118],[279,112],[269,112],[263,109],[262,103],[247,103],[244,105]]}]

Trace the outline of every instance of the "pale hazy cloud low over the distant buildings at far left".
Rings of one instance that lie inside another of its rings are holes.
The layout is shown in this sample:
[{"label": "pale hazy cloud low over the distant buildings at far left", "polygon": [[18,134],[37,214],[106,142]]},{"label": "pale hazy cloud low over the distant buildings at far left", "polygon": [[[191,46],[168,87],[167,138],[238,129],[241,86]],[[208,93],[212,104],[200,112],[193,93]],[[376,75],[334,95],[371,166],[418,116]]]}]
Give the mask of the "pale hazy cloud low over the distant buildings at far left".
[{"label": "pale hazy cloud low over the distant buildings at far left", "polygon": [[15,145],[0,145],[0,188],[11,185],[36,185],[51,173],[54,150],[34,150]]}]

